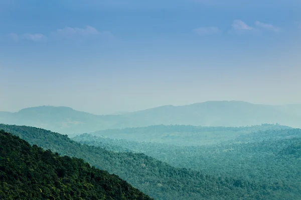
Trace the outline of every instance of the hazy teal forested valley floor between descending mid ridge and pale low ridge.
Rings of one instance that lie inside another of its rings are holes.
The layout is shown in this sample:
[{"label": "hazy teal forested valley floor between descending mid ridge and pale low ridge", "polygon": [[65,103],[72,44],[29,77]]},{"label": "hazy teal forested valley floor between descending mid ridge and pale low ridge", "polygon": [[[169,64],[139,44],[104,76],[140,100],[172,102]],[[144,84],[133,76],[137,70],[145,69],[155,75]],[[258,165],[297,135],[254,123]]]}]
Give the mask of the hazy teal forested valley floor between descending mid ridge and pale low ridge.
[{"label": "hazy teal forested valley floor between descending mid ridge and pale low ridge", "polygon": [[206,174],[286,185],[296,196],[301,196],[301,129],[258,131],[207,146],[134,142],[90,134],[73,139],[115,152],[144,153],[172,166],[191,168]]}]

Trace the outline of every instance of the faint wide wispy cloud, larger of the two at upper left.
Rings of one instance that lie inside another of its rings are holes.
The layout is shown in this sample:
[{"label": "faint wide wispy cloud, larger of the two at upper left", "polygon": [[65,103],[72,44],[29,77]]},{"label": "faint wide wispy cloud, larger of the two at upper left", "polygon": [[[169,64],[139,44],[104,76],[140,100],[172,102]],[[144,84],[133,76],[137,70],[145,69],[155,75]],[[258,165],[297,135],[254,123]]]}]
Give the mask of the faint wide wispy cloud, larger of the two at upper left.
[{"label": "faint wide wispy cloud, larger of the two at upper left", "polygon": [[88,37],[113,37],[108,31],[99,32],[96,28],[91,26],[86,26],[85,28],[72,28],[65,27],[63,29],[57,29],[54,33],[58,37],[76,39],[76,38],[88,38]]}]

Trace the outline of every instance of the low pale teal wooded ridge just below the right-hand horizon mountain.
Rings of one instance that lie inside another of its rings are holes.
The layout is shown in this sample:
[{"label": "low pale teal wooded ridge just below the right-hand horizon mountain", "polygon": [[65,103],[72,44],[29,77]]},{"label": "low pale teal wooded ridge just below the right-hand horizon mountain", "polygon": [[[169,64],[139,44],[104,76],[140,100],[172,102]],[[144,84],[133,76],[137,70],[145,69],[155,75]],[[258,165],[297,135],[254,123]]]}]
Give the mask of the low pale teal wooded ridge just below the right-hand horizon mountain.
[{"label": "low pale teal wooded ridge just below the right-hand horizon mountain", "polygon": [[216,144],[237,137],[244,137],[252,132],[266,130],[292,129],[278,124],[262,124],[248,127],[202,127],[189,125],[156,125],[148,127],[109,129],[91,133],[115,139],[139,142],[156,142],[174,145],[198,146]]}]

